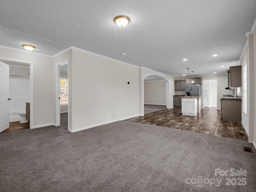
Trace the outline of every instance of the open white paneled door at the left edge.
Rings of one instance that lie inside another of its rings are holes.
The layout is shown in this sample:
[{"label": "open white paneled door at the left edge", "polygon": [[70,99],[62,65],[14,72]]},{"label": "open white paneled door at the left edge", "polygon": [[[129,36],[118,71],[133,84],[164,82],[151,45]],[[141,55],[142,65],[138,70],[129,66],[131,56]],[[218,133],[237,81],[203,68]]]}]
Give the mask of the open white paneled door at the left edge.
[{"label": "open white paneled door at the left edge", "polygon": [[9,65],[0,61],[0,132],[9,127]]}]

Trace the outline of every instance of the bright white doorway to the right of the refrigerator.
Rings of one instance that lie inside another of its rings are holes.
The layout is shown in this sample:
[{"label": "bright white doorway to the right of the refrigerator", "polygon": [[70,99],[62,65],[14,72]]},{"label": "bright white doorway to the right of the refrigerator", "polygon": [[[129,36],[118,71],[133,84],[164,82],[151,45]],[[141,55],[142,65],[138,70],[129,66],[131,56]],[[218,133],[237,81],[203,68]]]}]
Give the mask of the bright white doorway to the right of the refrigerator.
[{"label": "bright white doorway to the right of the refrigerator", "polygon": [[204,80],[204,107],[217,107],[217,79]]}]

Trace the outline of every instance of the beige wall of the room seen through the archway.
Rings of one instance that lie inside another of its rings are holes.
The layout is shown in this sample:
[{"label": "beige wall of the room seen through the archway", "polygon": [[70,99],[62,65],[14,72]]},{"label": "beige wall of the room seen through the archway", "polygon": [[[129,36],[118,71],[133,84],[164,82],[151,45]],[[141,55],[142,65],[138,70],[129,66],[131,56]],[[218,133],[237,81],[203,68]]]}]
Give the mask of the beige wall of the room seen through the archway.
[{"label": "beige wall of the room seen through the archway", "polygon": [[166,105],[165,81],[144,82],[144,104]]}]

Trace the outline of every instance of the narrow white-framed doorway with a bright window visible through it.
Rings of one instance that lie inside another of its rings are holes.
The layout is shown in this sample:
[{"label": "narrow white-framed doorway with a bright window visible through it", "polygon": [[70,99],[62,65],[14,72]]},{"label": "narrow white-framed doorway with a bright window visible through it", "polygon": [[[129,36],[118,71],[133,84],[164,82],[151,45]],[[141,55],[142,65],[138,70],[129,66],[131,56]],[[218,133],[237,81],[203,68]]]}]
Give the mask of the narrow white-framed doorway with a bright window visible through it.
[{"label": "narrow white-framed doorway with a bright window visible through it", "polygon": [[68,60],[56,64],[56,126],[68,127]]}]

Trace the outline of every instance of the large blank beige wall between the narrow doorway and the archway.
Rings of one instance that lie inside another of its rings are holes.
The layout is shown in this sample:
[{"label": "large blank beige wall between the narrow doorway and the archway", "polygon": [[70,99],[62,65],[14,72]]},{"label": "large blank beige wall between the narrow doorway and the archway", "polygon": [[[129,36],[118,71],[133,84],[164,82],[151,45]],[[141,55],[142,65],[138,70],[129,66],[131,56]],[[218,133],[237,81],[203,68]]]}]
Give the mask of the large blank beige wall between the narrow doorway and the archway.
[{"label": "large blank beige wall between the narrow doorway and the archway", "polygon": [[69,74],[73,122],[70,131],[139,115],[138,67],[73,49]]}]

